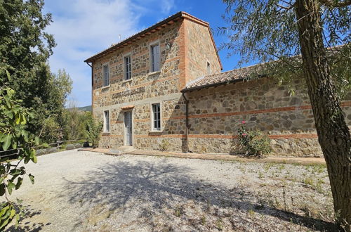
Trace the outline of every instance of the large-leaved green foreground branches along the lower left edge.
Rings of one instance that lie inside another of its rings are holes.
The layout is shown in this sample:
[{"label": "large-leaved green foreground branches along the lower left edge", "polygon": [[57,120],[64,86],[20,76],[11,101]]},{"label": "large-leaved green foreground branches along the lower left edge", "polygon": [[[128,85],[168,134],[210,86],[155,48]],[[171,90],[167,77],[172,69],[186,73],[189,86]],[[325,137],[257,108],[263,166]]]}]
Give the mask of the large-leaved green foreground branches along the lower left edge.
[{"label": "large-leaved green foreground branches along the lower left edge", "polygon": [[[11,80],[4,66],[0,72]],[[21,207],[10,200],[10,195],[20,188],[24,176],[34,183],[34,176],[26,172],[21,162],[37,163],[34,147],[39,146],[39,137],[27,131],[33,117],[31,109],[22,107],[8,82],[4,78],[1,81],[4,84],[0,87],[0,196],[5,197],[5,202],[0,205],[0,230],[3,230],[13,220],[17,226],[21,215]],[[13,155],[16,152],[18,155]]]}]

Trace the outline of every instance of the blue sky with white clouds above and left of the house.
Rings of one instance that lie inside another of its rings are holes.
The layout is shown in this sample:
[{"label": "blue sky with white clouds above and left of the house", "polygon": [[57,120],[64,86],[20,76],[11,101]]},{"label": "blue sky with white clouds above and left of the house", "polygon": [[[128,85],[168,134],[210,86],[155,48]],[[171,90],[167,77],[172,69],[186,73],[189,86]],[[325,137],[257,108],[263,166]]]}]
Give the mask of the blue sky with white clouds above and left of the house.
[{"label": "blue sky with white clouds above and left of the house", "polygon": [[[70,101],[77,106],[91,105],[91,67],[83,61],[111,44],[144,30],[178,11],[185,11],[210,23],[219,46],[225,37],[217,27],[225,26],[221,15],[225,4],[218,0],[46,0],[45,12],[53,15],[47,31],[58,46],[50,58],[52,72],[64,68],[73,79]],[[238,57],[227,58],[220,51],[223,71],[232,70]]]}]

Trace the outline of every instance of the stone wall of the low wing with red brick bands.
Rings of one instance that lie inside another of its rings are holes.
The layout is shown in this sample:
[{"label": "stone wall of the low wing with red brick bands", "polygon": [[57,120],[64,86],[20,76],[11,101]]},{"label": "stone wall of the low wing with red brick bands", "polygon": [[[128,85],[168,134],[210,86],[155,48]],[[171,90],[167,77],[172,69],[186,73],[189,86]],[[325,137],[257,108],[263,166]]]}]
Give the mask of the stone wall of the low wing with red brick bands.
[{"label": "stone wall of the low wing with red brick bands", "polygon": [[[237,129],[260,129],[271,138],[271,155],[320,156],[310,101],[303,79],[294,82],[296,94],[273,79],[218,86],[187,94],[189,147],[194,153],[239,153]],[[343,102],[351,125],[351,94]]]}]

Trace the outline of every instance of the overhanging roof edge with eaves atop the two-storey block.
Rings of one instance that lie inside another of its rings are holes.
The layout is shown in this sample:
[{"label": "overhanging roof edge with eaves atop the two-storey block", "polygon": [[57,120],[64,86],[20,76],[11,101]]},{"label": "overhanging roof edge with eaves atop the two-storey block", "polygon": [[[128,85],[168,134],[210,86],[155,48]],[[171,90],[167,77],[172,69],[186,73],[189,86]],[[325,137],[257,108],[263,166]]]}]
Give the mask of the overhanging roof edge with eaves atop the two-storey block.
[{"label": "overhanging roof edge with eaves atop the two-storey block", "polygon": [[137,39],[141,39],[142,37],[145,37],[147,34],[151,34],[153,32],[156,32],[157,30],[159,30],[161,28],[162,25],[171,24],[172,22],[176,22],[180,18],[187,18],[187,19],[192,20],[194,22],[198,22],[199,24],[204,25],[208,28],[208,32],[211,35],[211,40],[212,40],[213,46],[214,46],[216,53],[217,53],[217,58],[218,58],[218,61],[220,63],[220,67],[221,67],[221,69],[223,69],[223,66],[222,66],[222,63],[220,61],[220,57],[218,55],[217,47],[216,47],[215,41],[213,39],[213,35],[211,32],[209,23],[205,22],[204,20],[201,20],[199,18],[196,18],[193,15],[190,15],[189,13],[186,13],[184,11],[180,11],[178,13],[175,13],[174,15],[171,15],[168,18],[166,18],[160,22],[157,22],[156,24],[152,25],[151,27],[148,27],[147,29],[145,29],[141,32],[133,34],[131,37],[128,37],[128,38],[120,41],[117,44],[112,44],[112,46],[110,46],[110,48],[105,49],[104,51],[100,51],[99,53],[95,54],[94,56],[91,56],[90,58],[87,58],[86,60],[84,60],[84,62],[86,62],[86,63],[93,62],[93,60],[100,58],[101,56],[104,56],[107,53],[111,53],[112,51],[116,51],[117,49],[121,49],[122,47],[127,46],[128,44],[131,44],[133,41],[136,41]]}]

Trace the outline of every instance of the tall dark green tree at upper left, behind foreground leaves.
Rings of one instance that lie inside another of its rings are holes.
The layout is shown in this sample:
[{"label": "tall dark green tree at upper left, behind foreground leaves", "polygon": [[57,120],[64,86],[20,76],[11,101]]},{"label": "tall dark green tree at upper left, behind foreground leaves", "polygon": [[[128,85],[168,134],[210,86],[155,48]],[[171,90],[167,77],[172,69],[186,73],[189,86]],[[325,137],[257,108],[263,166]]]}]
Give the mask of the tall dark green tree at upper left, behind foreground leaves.
[{"label": "tall dark green tree at upper left, behind foreground leaves", "polygon": [[[37,135],[48,117],[49,126],[62,127],[60,119],[72,90],[67,72],[58,70],[55,74],[48,65],[56,44],[53,35],[46,33],[52,20],[50,13],[43,13],[43,7],[42,0],[0,1],[0,65],[11,75],[7,82],[15,91],[13,98],[20,99],[25,108],[32,108],[33,118],[27,129]],[[3,86],[5,74],[0,75]]]}]

